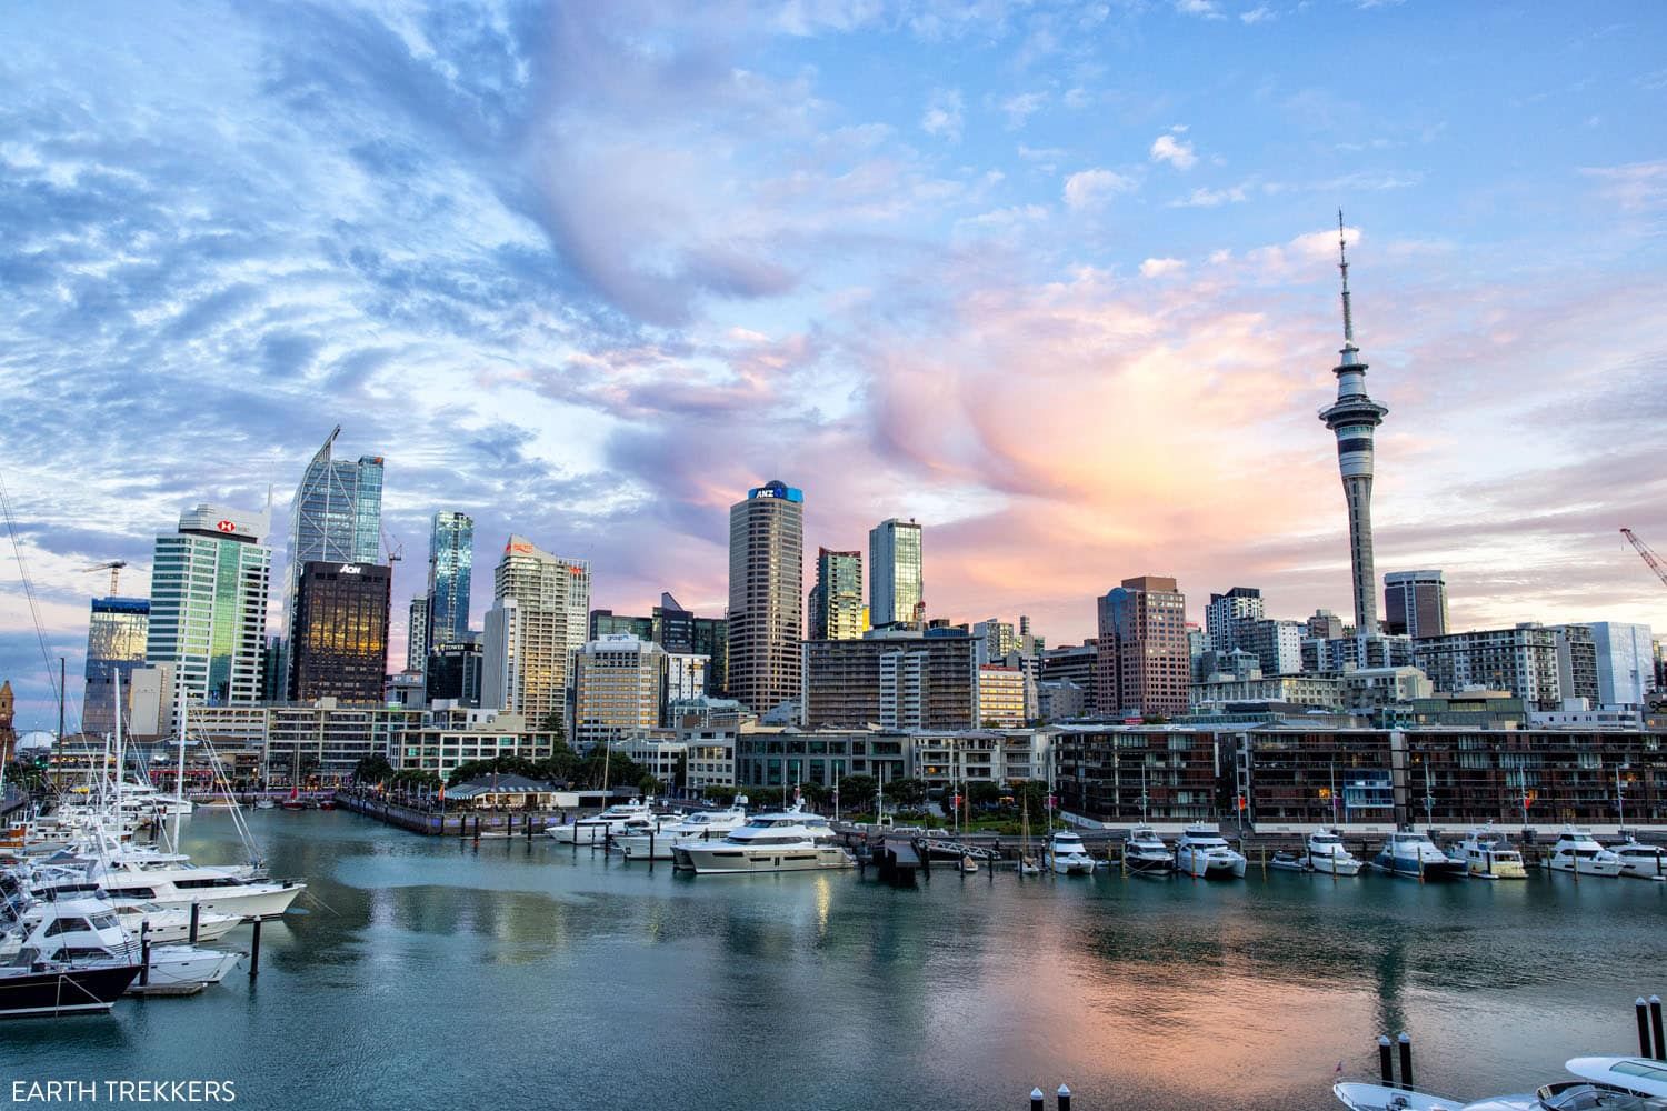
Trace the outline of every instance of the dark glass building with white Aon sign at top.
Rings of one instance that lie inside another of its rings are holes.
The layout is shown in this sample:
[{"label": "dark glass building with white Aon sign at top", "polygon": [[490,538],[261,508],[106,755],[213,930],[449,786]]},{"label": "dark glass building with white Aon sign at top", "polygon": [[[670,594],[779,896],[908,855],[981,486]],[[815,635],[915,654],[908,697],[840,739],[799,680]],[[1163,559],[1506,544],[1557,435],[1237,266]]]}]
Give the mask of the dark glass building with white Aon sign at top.
[{"label": "dark glass building with white Aon sign at top", "polygon": [[290,645],[290,701],[382,703],[392,590],[393,568],[383,563],[308,560],[302,565]]}]

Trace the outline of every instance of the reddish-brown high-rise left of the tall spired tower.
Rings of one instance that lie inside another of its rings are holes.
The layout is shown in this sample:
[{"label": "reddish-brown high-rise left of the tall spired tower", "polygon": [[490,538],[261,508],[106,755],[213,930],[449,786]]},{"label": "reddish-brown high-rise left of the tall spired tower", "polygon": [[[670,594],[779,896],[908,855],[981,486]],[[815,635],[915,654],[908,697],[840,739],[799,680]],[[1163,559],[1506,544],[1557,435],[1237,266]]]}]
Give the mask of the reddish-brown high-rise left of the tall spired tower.
[{"label": "reddish-brown high-rise left of the tall spired tower", "polygon": [[1187,596],[1172,578],[1125,578],[1099,605],[1095,670],[1102,715],[1187,711],[1192,660],[1187,651]]}]

